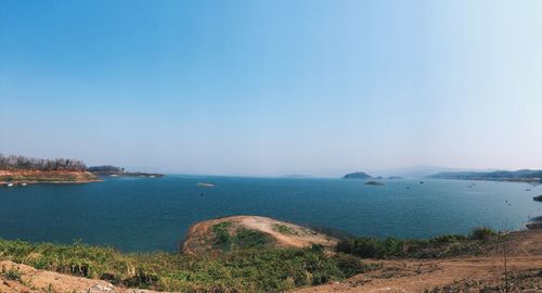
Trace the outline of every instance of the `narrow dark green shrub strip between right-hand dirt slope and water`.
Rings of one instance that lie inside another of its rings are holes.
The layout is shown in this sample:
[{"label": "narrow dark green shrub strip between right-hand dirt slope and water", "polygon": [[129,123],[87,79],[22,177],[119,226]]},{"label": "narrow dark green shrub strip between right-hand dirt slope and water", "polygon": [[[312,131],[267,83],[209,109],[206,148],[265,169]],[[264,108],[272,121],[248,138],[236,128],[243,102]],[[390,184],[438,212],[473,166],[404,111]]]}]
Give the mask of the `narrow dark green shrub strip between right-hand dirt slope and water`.
[{"label": "narrow dark green shrub strip between right-hand dirt slope and water", "polygon": [[446,234],[431,239],[349,238],[337,243],[336,251],[363,258],[441,258],[461,254],[480,254],[488,244],[499,242],[498,232],[478,227],[468,235]]}]

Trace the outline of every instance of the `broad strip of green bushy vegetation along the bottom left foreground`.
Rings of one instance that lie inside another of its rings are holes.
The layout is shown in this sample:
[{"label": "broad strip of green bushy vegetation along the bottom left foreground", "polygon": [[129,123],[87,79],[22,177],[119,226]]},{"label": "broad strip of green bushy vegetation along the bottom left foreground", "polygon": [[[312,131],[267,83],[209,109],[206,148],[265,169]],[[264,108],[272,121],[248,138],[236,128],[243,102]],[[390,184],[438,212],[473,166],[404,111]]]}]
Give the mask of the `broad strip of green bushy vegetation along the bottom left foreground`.
[{"label": "broad strip of green bushy vegetation along the bottom left foreground", "polygon": [[130,288],[182,292],[261,292],[341,280],[371,267],[322,246],[233,251],[218,258],[125,254],[111,247],[0,240],[0,259],[107,280]]}]

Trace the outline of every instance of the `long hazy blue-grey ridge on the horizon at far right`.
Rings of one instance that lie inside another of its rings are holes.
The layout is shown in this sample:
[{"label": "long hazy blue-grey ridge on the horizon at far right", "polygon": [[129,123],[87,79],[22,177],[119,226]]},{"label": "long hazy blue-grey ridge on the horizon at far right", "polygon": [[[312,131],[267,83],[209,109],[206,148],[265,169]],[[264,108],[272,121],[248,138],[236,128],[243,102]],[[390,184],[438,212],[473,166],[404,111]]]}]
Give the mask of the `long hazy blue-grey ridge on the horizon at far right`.
[{"label": "long hazy blue-grey ridge on the horizon at far right", "polygon": [[457,179],[457,180],[490,180],[513,182],[540,182],[542,183],[542,170],[516,170],[516,171],[450,171],[430,175],[430,179]]}]

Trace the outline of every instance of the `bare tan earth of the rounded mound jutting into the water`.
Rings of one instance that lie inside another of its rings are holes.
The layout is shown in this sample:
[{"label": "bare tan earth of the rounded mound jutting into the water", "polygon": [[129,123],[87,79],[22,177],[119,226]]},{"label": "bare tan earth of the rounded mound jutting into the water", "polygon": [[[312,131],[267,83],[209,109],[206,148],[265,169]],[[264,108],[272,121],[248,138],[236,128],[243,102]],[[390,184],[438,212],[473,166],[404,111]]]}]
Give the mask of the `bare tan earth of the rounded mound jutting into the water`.
[{"label": "bare tan earth of the rounded mound jutting into the water", "polygon": [[311,244],[321,244],[324,247],[333,249],[337,244],[337,240],[334,238],[294,224],[259,216],[234,216],[193,225],[181,251],[190,255],[220,253],[214,245],[217,237],[214,227],[221,224],[228,224],[225,229],[232,237],[242,229],[261,232],[271,239],[271,245],[276,247],[305,247]]}]

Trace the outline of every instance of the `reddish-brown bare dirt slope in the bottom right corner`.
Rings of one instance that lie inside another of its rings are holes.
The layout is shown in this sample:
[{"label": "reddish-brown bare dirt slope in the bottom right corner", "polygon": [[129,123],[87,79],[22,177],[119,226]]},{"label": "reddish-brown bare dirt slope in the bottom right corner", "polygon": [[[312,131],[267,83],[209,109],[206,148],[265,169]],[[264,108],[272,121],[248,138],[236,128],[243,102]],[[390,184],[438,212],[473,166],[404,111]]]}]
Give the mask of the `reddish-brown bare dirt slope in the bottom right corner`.
[{"label": "reddish-brown bare dirt slope in the bottom right corner", "polygon": [[[506,235],[508,292],[542,292],[542,231]],[[375,260],[378,270],[296,292],[505,292],[503,246],[482,256]]]}]

